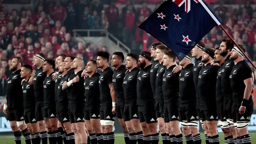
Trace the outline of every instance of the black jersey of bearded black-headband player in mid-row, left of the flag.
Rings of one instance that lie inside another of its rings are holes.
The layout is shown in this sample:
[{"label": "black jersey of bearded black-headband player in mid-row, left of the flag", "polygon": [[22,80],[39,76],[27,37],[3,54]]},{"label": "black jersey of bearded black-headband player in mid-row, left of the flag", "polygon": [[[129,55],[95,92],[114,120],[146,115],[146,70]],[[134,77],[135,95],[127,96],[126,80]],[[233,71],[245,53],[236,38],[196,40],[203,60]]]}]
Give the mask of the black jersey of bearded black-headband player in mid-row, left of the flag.
[{"label": "black jersey of bearded black-headband player in mid-row, left of the flag", "polygon": [[154,97],[150,85],[150,69],[152,64],[141,68],[137,76],[137,105],[146,106],[154,104]]}]

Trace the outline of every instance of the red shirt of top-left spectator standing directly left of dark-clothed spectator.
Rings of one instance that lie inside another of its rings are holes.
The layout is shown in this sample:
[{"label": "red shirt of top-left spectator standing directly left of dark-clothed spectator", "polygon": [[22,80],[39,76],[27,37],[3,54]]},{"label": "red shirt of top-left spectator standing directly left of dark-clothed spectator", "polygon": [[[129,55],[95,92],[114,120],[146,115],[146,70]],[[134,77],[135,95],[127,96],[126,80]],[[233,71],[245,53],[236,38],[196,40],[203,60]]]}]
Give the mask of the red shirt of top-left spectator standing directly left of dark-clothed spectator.
[{"label": "red shirt of top-left spectator standing directly left of dark-clothed spectator", "polygon": [[64,20],[64,13],[66,12],[66,8],[64,6],[53,6],[52,8],[52,19],[54,21],[63,21]]}]

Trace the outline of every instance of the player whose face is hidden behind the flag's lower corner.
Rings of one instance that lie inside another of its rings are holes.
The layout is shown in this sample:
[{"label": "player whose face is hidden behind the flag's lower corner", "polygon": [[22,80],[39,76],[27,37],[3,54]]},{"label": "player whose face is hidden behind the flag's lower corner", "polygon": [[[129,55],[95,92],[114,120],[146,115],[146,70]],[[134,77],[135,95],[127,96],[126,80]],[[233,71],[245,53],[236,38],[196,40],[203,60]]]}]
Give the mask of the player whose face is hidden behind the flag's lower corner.
[{"label": "player whose face is hidden behind the flag's lower corner", "polygon": [[179,76],[180,121],[187,144],[201,144],[198,131],[198,115],[196,111],[196,90],[193,80],[193,64],[191,53],[183,58],[179,65],[183,67]]}]

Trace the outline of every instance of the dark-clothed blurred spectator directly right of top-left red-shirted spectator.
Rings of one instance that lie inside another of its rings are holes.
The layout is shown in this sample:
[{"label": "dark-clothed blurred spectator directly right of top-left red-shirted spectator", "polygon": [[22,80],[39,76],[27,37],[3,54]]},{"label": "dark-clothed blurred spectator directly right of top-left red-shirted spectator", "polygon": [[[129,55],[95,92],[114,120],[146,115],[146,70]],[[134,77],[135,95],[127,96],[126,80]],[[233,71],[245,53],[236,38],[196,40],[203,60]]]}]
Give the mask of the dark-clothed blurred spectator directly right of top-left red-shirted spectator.
[{"label": "dark-clothed blurred spectator directly right of top-left red-shirted spectator", "polygon": [[67,7],[67,18],[65,20],[65,25],[68,32],[71,32],[76,25],[76,11],[73,7],[73,3],[69,2]]}]

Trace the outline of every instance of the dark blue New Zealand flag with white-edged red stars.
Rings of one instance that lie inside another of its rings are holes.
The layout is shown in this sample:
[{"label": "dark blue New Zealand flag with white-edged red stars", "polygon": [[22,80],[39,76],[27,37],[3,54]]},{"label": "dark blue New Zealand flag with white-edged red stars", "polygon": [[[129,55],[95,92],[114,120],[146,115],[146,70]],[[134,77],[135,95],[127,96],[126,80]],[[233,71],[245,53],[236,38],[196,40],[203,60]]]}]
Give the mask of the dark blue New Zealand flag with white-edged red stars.
[{"label": "dark blue New Zealand flag with white-edged red stars", "polygon": [[166,0],[139,28],[182,60],[221,19],[203,0]]}]

